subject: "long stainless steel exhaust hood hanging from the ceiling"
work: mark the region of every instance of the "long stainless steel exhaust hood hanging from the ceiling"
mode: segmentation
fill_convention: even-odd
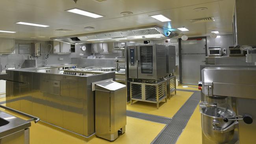
[[[111,31],[101,31],[95,33],[84,33],[78,35],[67,35],[63,37],[52,37],[50,39],[70,44],[100,41],[129,41],[135,39],[152,39],[156,37],[176,37],[178,33],[161,28],[159,26],[143,26]]]

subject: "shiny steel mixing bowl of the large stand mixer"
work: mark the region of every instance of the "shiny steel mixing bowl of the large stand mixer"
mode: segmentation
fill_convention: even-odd
[[[222,109],[209,106],[207,103],[201,102],[201,126],[204,135],[217,144],[226,144],[234,138],[235,124],[234,120],[224,122],[223,118],[236,118],[236,113],[230,109]]]

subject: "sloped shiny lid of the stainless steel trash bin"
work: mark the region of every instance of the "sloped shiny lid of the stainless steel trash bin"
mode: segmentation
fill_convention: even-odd
[[[117,83],[115,81],[106,81],[103,83],[96,84],[95,89],[96,90],[106,90],[106,91],[116,91],[119,89],[122,89],[126,87],[126,85],[123,85],[122,83]]]

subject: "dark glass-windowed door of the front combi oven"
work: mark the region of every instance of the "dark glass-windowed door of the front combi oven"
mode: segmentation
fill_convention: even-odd
[[[137,46],[138,78],[157,79],[156,76],[156,45]]]

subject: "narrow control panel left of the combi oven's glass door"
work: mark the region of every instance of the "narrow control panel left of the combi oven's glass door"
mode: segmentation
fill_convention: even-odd
[[[128,46],[129,78],[138,78],[137,46]]]

